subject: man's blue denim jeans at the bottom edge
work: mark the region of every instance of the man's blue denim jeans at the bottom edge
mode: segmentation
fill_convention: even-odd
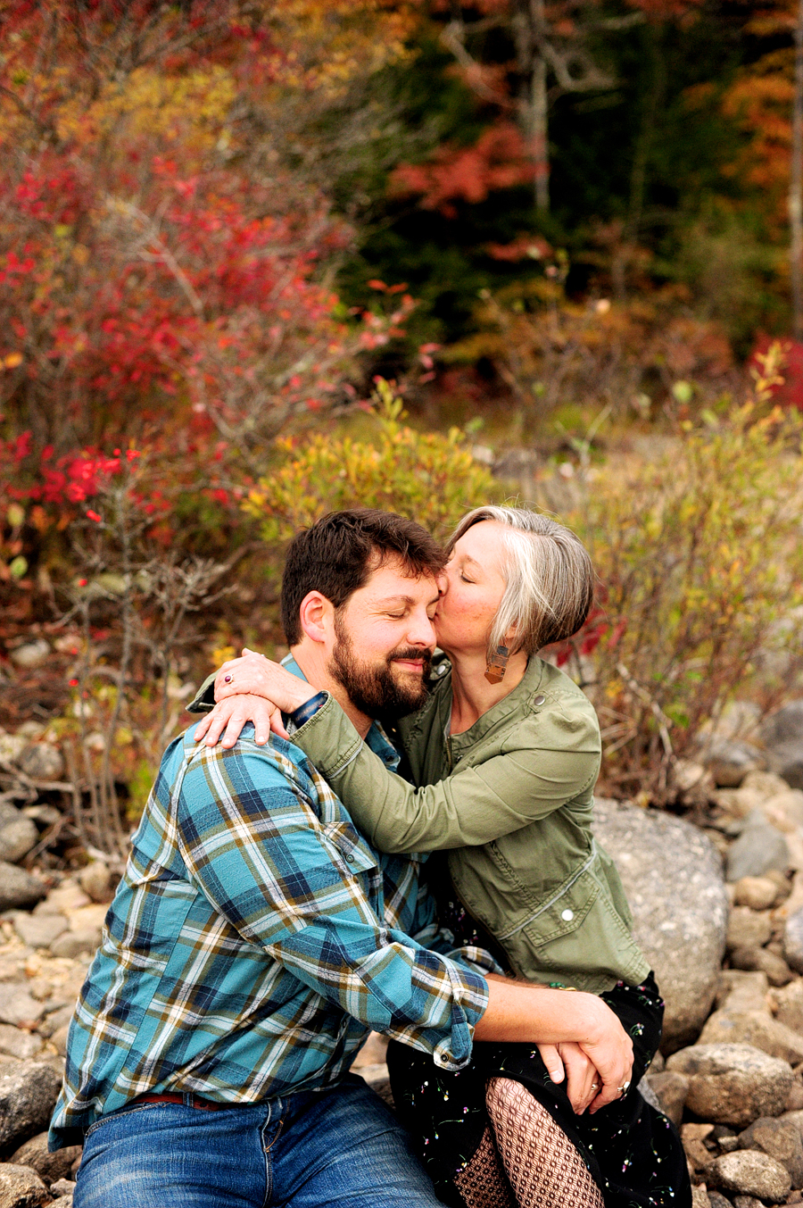
[[[441,1208],[361,1079],[220,1111],[121,1108],[87,1132],[74,1208]]]

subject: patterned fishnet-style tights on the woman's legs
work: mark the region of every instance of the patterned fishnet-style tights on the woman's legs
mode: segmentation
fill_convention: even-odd
[[[467,1208],[604,1208],[580,1154],[520,1082],[491,1078],[485,1104],[493,1134],[454,1180]]]

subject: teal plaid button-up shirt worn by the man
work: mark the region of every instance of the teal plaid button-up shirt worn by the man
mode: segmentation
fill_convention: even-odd
[[[223,750],[190,730],[164,754],[70,1026],[53,1148],[145,1092],[331,1086],[371,1028],[470,1061],[487,982],[448,956],[418,861],[374,852],[297,747],[252,733]],[[376,726],[368,744],[395,766]]]

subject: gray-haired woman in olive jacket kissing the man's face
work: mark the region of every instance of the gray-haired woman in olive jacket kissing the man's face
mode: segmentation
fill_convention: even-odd
[[[568,529],[523,509],[477,509],[449,544],[435,620],[449,662],[435,666],[424,708],[398,725],[419,788],[380,766],[331,697],[292,736],[374,846],[438,853],[430,883],[455,945],[482,946],[531,981],[601,994],[633,1039],[634,1085],[599,1111],[590,1074],[588,1092],[572,1094],[575,1111],[530,1046],[477,1044],[456,1075],[391,1046],[400,1115],[438,1192],[469,1208],[513,1203],[511,1189],[520,1206],[691,1203],[679,1138],[635,1091],[663,1004],[590,830],[597,718],[536,656],[582,626],[592,597],[590,559]],[[243,691],[291,710],[315,689],[267,660],[227,663],[216,696],[228,707],[216,707],[208,741]]]

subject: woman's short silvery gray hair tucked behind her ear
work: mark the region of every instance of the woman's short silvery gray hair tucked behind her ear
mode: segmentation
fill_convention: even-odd
[[[447,552],[481,521],[496,521],[506,529],[505,592],[489,635],[489,656],[506,644],[505,634],[513,626],[511,651],[528,655],[577,633],[594,599],[594,568],[580,538],[526,507],[475,507],[449,538]]]

